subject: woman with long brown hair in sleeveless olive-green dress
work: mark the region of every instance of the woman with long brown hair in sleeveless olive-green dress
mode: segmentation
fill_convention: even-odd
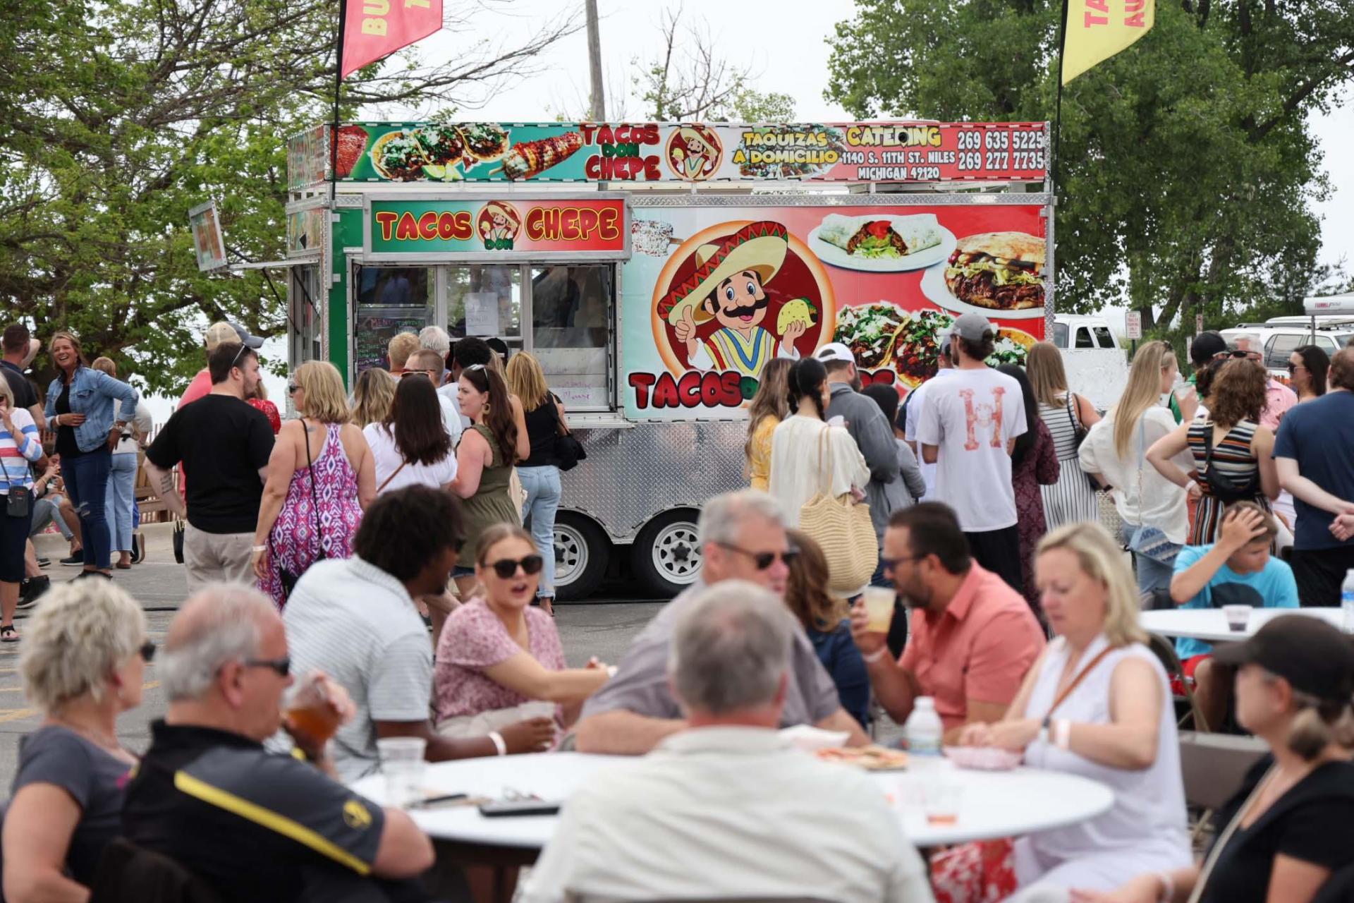
[[[502,376],[483,364],[460,372],[456,397],[460,413],[470,417],[470,429],[460,435],[460,444],[456,445],[456,479],[451,490],[464,500],[463,548],[475,548],[479,535],[489,527],[521,524],[508,491],[512,467],[517,462],[517,418]],[[474,567],[458,565],[452,575],[463,597],[475,585]]]

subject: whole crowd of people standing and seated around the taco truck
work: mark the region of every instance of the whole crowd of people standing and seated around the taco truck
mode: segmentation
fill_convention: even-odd
[[[768,364],[750,487],[703,505],[697,579],[619,663],[570,667],[551,604],[567,420],[528,353],[399,334],[351,398],[330,364],[298,367],[297,417],[275,428],[240,403],[260,401],[259,340],[213,325],[196,397],[145,451],[187,521],[190,600],[157,655],[141,607],[102,579],[122,551],[110,474],[125,431],[137,439],[135,390],[56,333],[46,405],[24,403],[8,378],[32,349],[7,330],[0,475],[27,498],[34,466],[69,464],[91,579],[46,592],[22,644],[45,720],[0,835],[5,899],[85,900],[138,856],[226,900],[483,899],[482,868],[444,868],[406,812],[349,789],[390,738],[418,738],[433,762],[643,757],[570,796],[523,880],[531,903],[1311,903],[1354,885],[1349,638],[1284,616],[1216,648],[1179,640],[1196,727],[1231,718],[1269,750],[1197,861],[1181,688],[1139,625],[1144,607],[1338,604],[1354,567],[1354,348],[1294,352],[1292,393],[1246,337],[1197,337],[1187,382],[1145,343],[1102,414],[1055,348],[991,367],[995,338],[959,317],[940,374],[902,405],[864,389],[841,344]],[[0,529],[0,639],[18,639],[31,519]],[[867,586],[894,592],[887,631],[852,604]],[[116,719],[152,659],[169,708],[135,754]],[[326,700],[330,739],[295,713],[301,688]],[[881,715],[932,707],[945,746],[1093,778],[1113,804],[927,861],[876,784],[777,732],[862,746]]]

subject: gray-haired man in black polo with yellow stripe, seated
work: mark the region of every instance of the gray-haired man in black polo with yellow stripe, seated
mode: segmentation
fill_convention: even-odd
[[[432,842],[408,815],[333,780],[324,745],[301,731],[288,728],[313,764],[264,750],[283,726],[290,666],[267,596],[218,583],[188,600],[157,662],[169,709],[127,785],[123,834],[226,900],[351,899],[360,885],[427,899],[410,879],[432,865]],[[347,695],[326,688],[349,715]]]

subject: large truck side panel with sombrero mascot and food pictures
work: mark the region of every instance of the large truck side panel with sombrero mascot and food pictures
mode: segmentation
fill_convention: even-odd
[[[739,416],[772,360],[830,341],[867,383],[933,376],[955,318],[994,326],[988,363],[1044,337],[1044,207],[643,207],[621,269],[626,416]]]

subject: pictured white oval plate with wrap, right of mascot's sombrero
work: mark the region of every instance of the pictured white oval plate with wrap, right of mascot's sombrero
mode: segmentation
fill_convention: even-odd
[[[955,252],[955,233],[936,214],[844,217],[827,214],[808,233],[808,246],[825,264],[867,272],[921,269]]]

